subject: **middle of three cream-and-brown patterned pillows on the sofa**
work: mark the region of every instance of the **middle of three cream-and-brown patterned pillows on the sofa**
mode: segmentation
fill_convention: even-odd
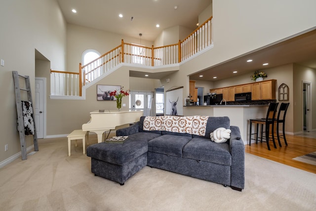
[[[179,133],[192,133],[193,117],[165,116],[161,130]]]

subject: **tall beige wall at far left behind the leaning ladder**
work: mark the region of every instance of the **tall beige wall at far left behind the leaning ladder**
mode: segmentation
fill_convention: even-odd
[[[51,62],[52,69],[65,70],[66,22],[56,0],[2,0],[0,3],[0,161],[21,151],[16,129],[16,106],[12,71],[30,76],[35,84],[35,49]],[[34,93],[33,93],[34,101]],[[27,147],[33,145],[26,136]],[[4,152],[4,145],[8,151]]]

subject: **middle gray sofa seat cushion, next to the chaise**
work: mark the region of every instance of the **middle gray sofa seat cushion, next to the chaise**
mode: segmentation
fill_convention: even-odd
[[[161,135],[148,142],[148,151],[182,157],[182,149],[191,139],[179,135]]]

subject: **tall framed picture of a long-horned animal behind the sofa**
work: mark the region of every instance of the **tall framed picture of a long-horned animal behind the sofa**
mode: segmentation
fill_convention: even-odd
[[[183,86],[166,91],[166,115],[183,116]]]

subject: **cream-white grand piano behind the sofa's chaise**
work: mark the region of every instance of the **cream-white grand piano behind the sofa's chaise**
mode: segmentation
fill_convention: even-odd
[[[90,121],[82,125],[83,131],[95,132],[98,135],[98,143],[102,142],[103,133],[115,129],[117,126],[135,123],[143,116],[143,111],[110,111],[90,112]]]

